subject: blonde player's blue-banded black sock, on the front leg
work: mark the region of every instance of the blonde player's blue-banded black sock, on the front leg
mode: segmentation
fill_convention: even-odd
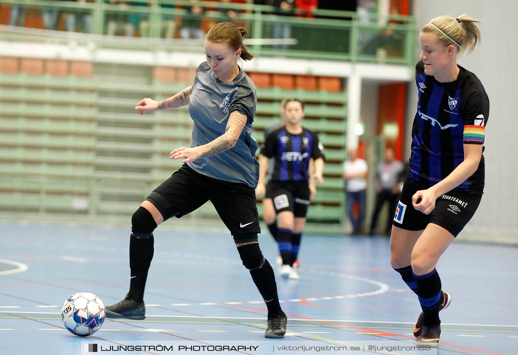
[[[423,308],[423,324],[438,324],[439,302],[441,301],[441,278],[437,270],[432,270],[424,275],[414,274],[417,283],[417,294],[421,308]]]

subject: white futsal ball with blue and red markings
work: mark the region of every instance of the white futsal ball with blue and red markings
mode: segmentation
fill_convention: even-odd
[[[63,325],[78,336],[89,336],[98,331],[105,316],[103,301],[90,292],[71,295],[61,307]]]

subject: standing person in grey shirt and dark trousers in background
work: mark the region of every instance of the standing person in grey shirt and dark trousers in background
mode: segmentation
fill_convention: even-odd
[[[396,202],[400,193],[399,179],[403,170],[403,163],[394,158],[394,151],[391,148],[385,149],[384,159],[380,161],[374,172],[374,183],[376,185],[376,206],[372,213],[370,224],[370,235],[376,234],[378,216],[385,204],[389,202],[389,214],[385,226],[385,234],[390,235],[392,229],[392,219],[396,212]]]

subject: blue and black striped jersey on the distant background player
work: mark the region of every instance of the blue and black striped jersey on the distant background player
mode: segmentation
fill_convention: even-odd
[[[301,134],[292,135],[281,127],[266,137],[261,154],[275,158],[272,181],[303,181],[309,179],[309,159],[324,158],[324,147],[309,129],[303,128]]]

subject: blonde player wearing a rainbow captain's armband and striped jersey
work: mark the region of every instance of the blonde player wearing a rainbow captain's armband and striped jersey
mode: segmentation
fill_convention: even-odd
[[[484,128],[489,99],[480,80],[457,64],[457,54],[480,41],[468,16],[441,16],[421,30],[416,65],[418,112],[412,128],[409,176],[391,236],[391,264],[419,298],[418,344],[437,346],[442,292],[437,261],[473,216],[484,189]]]

